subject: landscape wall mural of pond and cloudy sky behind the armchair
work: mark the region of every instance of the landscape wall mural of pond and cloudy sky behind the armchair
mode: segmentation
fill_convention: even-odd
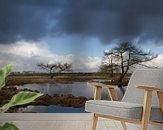
[[[86,114],[98,87],[121,101],[163,69],[162,23],[161,0],[0,0],[0,113]]]

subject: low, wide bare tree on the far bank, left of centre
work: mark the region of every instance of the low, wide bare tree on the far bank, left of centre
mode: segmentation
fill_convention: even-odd
[[[56,64],[38,64],[40,69],[43,69],[50,73],[51,78],[54,77],[55,73],[63,73],[72,71],[72,64],[70,63],[56,63]]]

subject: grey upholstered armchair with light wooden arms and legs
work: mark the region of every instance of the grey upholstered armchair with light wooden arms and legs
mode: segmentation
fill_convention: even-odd
[[[113,86],[90,85],[95,86],[95,95],[86,102],[85,110],[93,113],[92,130],[96,130],[98,117],[118,120],[124,130],[125,123],[140,124],[141,130],[147,130],[149,124],[163,126],[163,69],[134,71],[122,101],[115,101]],[[102,87],[108,87],[112,101],[100,100]]]

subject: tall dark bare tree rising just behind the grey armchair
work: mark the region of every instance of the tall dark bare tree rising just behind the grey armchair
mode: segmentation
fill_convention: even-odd
[[[105,60],[103,60],[101,66],[108,64],[112,73],[114,70],[119,70],[120,76],[117,80],[117,85],[120,88],[122,88],[123,79],[131,67],[136,65],[151,67],[145,63],[157,57],[151,52],[141,50],[131,42],[122,42],[110,51],[105,51],[104,55]]]

